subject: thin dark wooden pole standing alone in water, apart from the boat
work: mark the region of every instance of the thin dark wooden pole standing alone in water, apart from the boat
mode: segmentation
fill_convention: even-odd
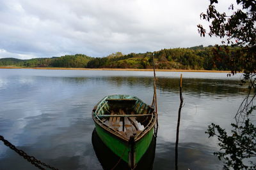
[[[176,131],[176,143],[175,143],[175,169],[178,169],[178,144],[179,144],[179,129],[180,129],[180,111],[183,104],[182,97],[182,74],[180,74],[180,107],[179,107],[179,115],[177,121],[177,131]]]

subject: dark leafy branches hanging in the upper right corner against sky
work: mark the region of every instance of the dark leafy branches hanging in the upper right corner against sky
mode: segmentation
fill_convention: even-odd
[[[241,47],[225,57],[216,53],[216,60],[226,60],[232,74],[243,71],[245,78],[248,78],[249,74],[256,73],[256,1],[237,0],[237,4],[242,6],[241,9],[234,8],[234,4],[230,4],[228,8],[232,12],[230,16],[216,10],[214,4],[218,3],[217,0],[210,0],[210,2],[207,12],[201,13],[200,17],[211,23],[209,36],[226,38],[222,41],[226,46],[221,49],[216,45],[217,51],[227,50],[227,45]],[[207,34],[201,24],[197,27],[201,36]]]

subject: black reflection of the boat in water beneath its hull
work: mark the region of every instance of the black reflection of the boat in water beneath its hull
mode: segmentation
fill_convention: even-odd
[[[120,157],[115,155],[115,153],[113,153],[103,143],[103,141],[99,138],[95,129],[92,132],[92,145],[97,155],[97,158],[99,159],[99,162],[104,170],[113,169],[113,167],[115,166],[116,166],[115,167],[116,170],[117,169],[131,170],[131,167],[129,167],[124,160],[120,159]],[[156,152],[156,138],[153,137],[150,145],[148,146],[147,152],[145,152],[140,162],[138,162],[137,166],[134,169],[145,169],[145,170],[152,169],[154,158],[155,158],[155,152]]]

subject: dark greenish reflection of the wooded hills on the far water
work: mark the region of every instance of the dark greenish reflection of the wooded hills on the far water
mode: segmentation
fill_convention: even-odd
[[[151,88],[153,84],[153,78],[148,77],[120,77],[120,76],[109,76],[109,77],[96,77],[96,78],[61,78],[63,81],[69,81],[74,83],[84,83],[85,81],[106,81],[111,85],[115,85],[117,87],[128,86],[128,87],[136,87],[138,85],[143,86],[145,88]],[[168,92],[179,92],[179,78],[157,78],[157,89],[161,91]],[[186,94],[201,95],[204,93],[205,95],[218,95],[225,96],[228,95],[241,95],[247,91],[247,88],[240,87],[238,85],[238,81],[236,80],[206,80],[201,78],[188,78],[186,79],[186,83],[184,84],[184,92]]]

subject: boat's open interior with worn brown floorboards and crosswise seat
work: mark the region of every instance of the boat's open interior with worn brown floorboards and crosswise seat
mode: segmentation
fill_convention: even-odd
[[[100,123],[129,139],[137,138],[154,121],[153,108],[138,99],[106,99],[95,110]]]

